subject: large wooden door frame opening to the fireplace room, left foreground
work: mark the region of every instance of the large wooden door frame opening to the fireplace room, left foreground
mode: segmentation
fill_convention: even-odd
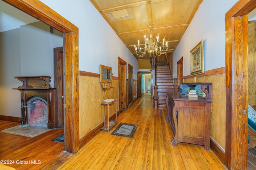
[[[65,151],[79,150],[79,109],[78,109],[78,27],[66,20],[40,0],[3,0],[26,14],[64,33],[65,58]]]

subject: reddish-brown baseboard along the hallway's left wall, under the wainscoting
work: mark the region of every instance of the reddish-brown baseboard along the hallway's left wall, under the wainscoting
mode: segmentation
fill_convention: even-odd
[[[119,116],[119,111],[117,111],[117,115]],[[109,117],[110,120],[116,119],[116,113],[114,113],[112,116]],[[101,128],[103,127],[103,122],[100,123],[98,126],[96,126],[94,129],[92,129],[92,131],[90,131],[89,133],[87,133],[86,135],[84,135],[82,138],[80,138],[80,148],[82,148],[84,145],[86,145],[86,143],[88,143],[92,138],[94,138],[96,135],[98,135],[98,133],[100,133],[100,131],[104,131],[101,130]]]

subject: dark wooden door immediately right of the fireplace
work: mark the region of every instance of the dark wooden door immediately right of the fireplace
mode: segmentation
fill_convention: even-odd
[[[61,127],[64,120],[64,69],[63,47],[54,48],[55,127]]]

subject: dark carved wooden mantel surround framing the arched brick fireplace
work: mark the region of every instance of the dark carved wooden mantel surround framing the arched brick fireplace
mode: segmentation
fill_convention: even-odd
[[[47,127],[53,129],[55,125],[55,98],[54,92],[56,88],[50,86],[50,76],[19,76],[14,77],[23,82],[22,86],[13,88],[20,91],[21,97],[21,112],[22,122],[21,124],[28,124],[28,100],[33,97],[39,97],[46,101],[48,110],[48,123]],[[25,115],[25,113],[27,113]]]

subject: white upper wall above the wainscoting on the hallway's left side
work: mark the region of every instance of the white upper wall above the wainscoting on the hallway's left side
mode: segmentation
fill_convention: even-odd
[[[100,64],[112,67],[118,76],[118,57],[133,66],[138,61],[89,0],[41,0],[79,29],[79,70],[100,73]],[[61,5],[60,5],[61,4]]]

